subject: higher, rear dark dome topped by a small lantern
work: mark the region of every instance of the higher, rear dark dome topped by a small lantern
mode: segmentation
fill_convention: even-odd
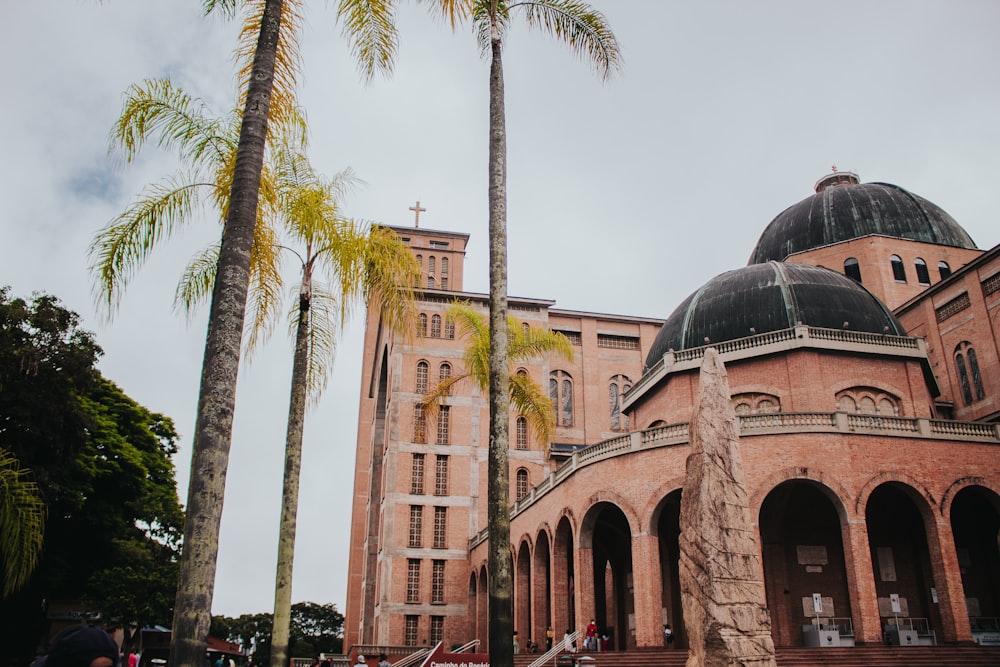
[[[922,197],[889,183],[860,183],[850,172],[820,179],[816,194],[782,211],[760,235],[750,264],[878,234],[974,249],[955,219]]]

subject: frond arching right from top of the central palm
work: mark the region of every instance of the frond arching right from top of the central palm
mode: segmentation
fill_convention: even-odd
[[[521,0],[529,27],[538,28],[565,42],[589,62],[602,80],[621,69],[621,51],[604,14],[581,0]]]

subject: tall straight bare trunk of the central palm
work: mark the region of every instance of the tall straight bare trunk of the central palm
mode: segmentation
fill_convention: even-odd
[[[514,580],[510,553],[510,470],[507,463],[510,377],[507,369],[507,128],[502,43],[494,31],[490,64],[490,442],[487,532],[489,534],[489,652],[492,667],[514,664]]]

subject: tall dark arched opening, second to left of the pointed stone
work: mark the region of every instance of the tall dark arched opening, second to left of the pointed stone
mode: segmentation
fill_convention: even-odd
[[[632,531],[625,514],[611,503],[600,503],[588,518],[593,549],[594,620],[598,635],[608,635],[608,648],[635,647],[632,590]]]

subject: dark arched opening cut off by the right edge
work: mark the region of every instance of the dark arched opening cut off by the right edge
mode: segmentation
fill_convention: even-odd
[[[955,495],[951,531],[973,636],[1000,631],[1000,497],[981,486]]]

